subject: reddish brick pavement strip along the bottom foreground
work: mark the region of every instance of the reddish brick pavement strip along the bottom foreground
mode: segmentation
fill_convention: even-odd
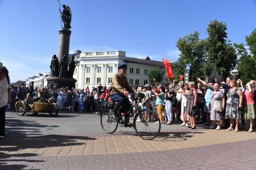
[[[255,169],[255,146],[252,139],[143,153],[11,156],[1,159],[0,169]]]

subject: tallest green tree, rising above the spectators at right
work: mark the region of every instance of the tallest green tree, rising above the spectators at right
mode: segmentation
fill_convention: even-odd
[[[233,44],[226,40],[226,23],[211,21],[207,28],[208,37],[205,40],[207,50],[207,63],[205,74],[210,76],[213,67],[217,73],[227,77],[230,71],[236,67],[237,55]]]

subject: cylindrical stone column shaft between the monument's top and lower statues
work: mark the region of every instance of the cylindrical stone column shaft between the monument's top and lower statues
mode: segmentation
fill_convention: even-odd
[[[66,28],[60,29],[60,40],[58,41],[58,62],[60,62],[63,55],[69,56],[69,41],[71,31]]]

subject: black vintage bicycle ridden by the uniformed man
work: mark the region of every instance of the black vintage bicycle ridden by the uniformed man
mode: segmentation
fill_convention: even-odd
[[[140,138],[145,140],[152,140],[157,137],[161,130],[160,119],[155,112],[149,109],[140,109],[141,107],[139,106],[139,100],[142,98],[143,97],[141,96],[135,97],[131,95],[132,103],[134,103],[134,105],[131,107],[130,117],[126,118],[126,120],[123,118],[124,115],[120,113],[120,119],[118,121],[114,120],[114,114],[112,112],[114,103],[108,103],[100,114],[101,127],[104,132],[108,134],[116,132],[118,125],[123,127],[125,121],[128,121],[131,117],[133,117],[134,119],[131,127],[135,129],[135,132],[138,136],[140,136]]]

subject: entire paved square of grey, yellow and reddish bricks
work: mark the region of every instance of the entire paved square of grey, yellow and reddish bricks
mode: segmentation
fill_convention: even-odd
[[[256,169],[255,133],[172,124],[145,141],[133,128],[105,134],[98,115],[74,113],[7,112],[6,126],[0,169]]]

